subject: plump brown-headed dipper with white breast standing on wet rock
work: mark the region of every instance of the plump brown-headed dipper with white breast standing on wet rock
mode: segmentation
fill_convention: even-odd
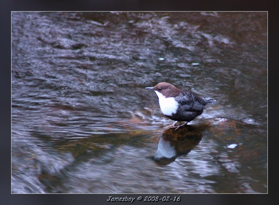
[[[176,121],[183,121],[184,124],[177,126],[181,127],[195,119],[203,113],[206,105],[216,103],[213,98],[200,98],[190,91],[181,90],[174,87],[172,84],[161,82],[154,87],[146,87],[145,89],[154,90],[159,98],[159,105],[162,113]]]

